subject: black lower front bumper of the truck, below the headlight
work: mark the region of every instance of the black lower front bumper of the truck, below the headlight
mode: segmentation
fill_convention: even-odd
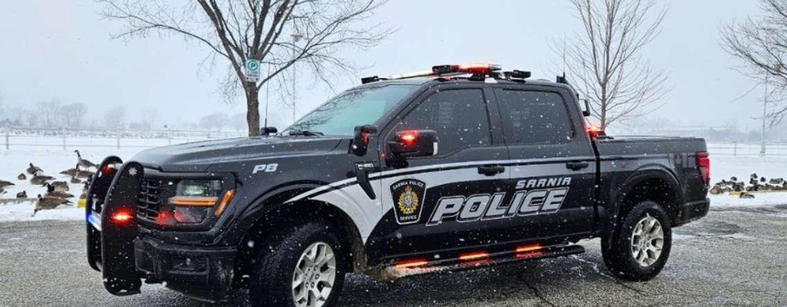
[[[150,237],[134,241],[137,271],[146,283],[195,298],[217,301],[231,288],[236,249],[167,244]]]

